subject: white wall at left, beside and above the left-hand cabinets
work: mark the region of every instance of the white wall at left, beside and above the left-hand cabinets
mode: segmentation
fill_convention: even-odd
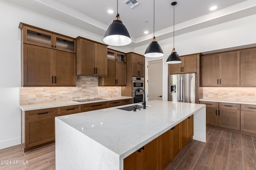
[[[0,0],[0,21],[0,149],[2,149],[21,143],[19,23],[23,22],[70,37],[81,36],[98,42],[103,42],[103,37],[4,0]],[[134,51],[131,47],[115,49],[123,52]]]

